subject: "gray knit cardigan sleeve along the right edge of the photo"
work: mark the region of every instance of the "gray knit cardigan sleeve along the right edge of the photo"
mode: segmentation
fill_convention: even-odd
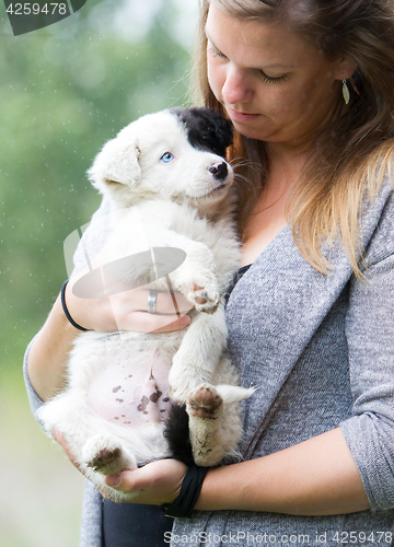
[[[371,509],[394,508],[394,207],[387,203],[351,282],[346,335],[352,415],[340,427]]]

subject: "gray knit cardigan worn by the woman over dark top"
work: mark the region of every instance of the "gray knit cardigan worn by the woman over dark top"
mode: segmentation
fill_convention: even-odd
[[[107,235],[107,209],[104,203],[84,234],[90,253]],[[170,539],[173,546],[209,547],[391,545],[394,199],[389,181],[373,205],[364,205],[361,247],[366,280],[355,278],[340,246],[326,249],[333,269],[320,274],[285,228],[235,286],[227,321],[229,351],[243,385],[262,386],[244,405],[244,458],[283,450],[340,426],[371,510],[334,516],[196,511],[192,519],[175,521],[172,537],[165,538],[169,545]],[[79,248],[76,268],[83,266]],[[42,401],[26,368],[25,379],[34,411]],[[101,503],[100,493],[86,484],[81,547],[102,547]]]

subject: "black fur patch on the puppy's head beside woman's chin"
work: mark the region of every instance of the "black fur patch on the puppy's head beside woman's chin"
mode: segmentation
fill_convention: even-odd
[[[229,119],[213,108],[173,108],[186,128],[187,140],[198,150],[225,156],[225,149],[233,138],[233,126]]]

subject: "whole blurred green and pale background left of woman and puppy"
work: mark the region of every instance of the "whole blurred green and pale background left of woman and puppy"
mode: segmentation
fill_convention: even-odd
[[[88,0],[14,36],[0,3],[1,547],[78,546],[83,479],[30,412],[23,353],[67,278],[63,241],[100,203],[93,158],[132,119],[187,104],[197,4]]]

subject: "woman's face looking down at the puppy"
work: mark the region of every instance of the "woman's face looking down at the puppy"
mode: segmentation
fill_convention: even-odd
[[[235,19],[211,5],[206,33],[209,84],[246,137],[302,148],[344,101],[341,80],[355,68],[328,61],[285,26]]]

